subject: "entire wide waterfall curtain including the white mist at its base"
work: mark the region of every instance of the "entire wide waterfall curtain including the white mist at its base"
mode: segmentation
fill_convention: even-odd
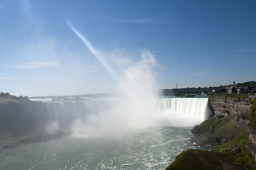
[[[139,106],[132,109],[119,105],[120,101],[121,98],[48,101],[47,131],[69,129],[80,123],[85,126],[103,126],[103,129],[111,126],[119,129],[120,125],[134,128],[143,123],[149,126],[192,127],[202,123],[208,115],[208,98],[160,98],[158,108],[150,111],[153,115],[142,113],[142,109],[137,111]]]

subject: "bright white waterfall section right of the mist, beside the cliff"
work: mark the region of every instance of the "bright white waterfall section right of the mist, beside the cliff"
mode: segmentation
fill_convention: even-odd
[[[208,118],[208,98],[161,98],[159,110],[164,124],[190,127]]]

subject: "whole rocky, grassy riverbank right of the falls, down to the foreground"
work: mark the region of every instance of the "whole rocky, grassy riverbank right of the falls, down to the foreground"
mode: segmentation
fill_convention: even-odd
[[[255,100],[251,101],[250,98],[239,97],[209,98],[209,106],[214,113],[213,117],[193,128],[194,136],[192,140],[197,145],[215,147],[214,152],[207,153],[208,159],[202,159],[201,154],[199,154],[200,152],[194,152],[193,150],[190,151],[190,154],[181,153],[176,161],[169,166],[169,169],[181,169],[181,167],[178,168],[181,164],[191,164],[191,162],[196,161],[198,164],[205,164],[207,166],[204,168],[190,166],[190,169],[211,169],[212,164],[210,162],[212,162],[212,159],[215,159],[216,152],[222,152],[229,156],[233,163],[244,166],[244,168],[241,166],[228,168],[231,167],[226,164],[228,162],[224,162],[226,165],[222,164],[223,162],[219,162],[218,164],[221,163],[222,168],[217,169],[256,169]],[[252,108],[255,108],[255,110],[252,111]],[[187,161],[189,157],[193,157],[193,160],[191,159],[190,162]]]

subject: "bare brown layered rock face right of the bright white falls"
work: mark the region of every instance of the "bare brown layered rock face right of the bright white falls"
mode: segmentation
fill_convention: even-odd
[[[209,105],[214,116],[229,116],[235,122],[248,123],[250,107],[250,98],[209,98]]]

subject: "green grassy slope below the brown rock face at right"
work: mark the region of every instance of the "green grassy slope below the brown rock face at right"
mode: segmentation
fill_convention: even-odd
[[[256,99],[253,102],[256,103]],[[253,111],[256,110],[251,109],[251,113]],[[250,122],[255,128],[255,121]],[[208,143],[216,145],[215,152],[223,152],[233,157],[234,164],[245,166],[247,170],[256,169],[253,157],[245,151],[245,146],[249,144],[246,125],[242,129],[237,128],[230,118],[224,117],[206,120],[193,128],[192,132],[196,134],[195,141],[201,142],[200,145]]]

